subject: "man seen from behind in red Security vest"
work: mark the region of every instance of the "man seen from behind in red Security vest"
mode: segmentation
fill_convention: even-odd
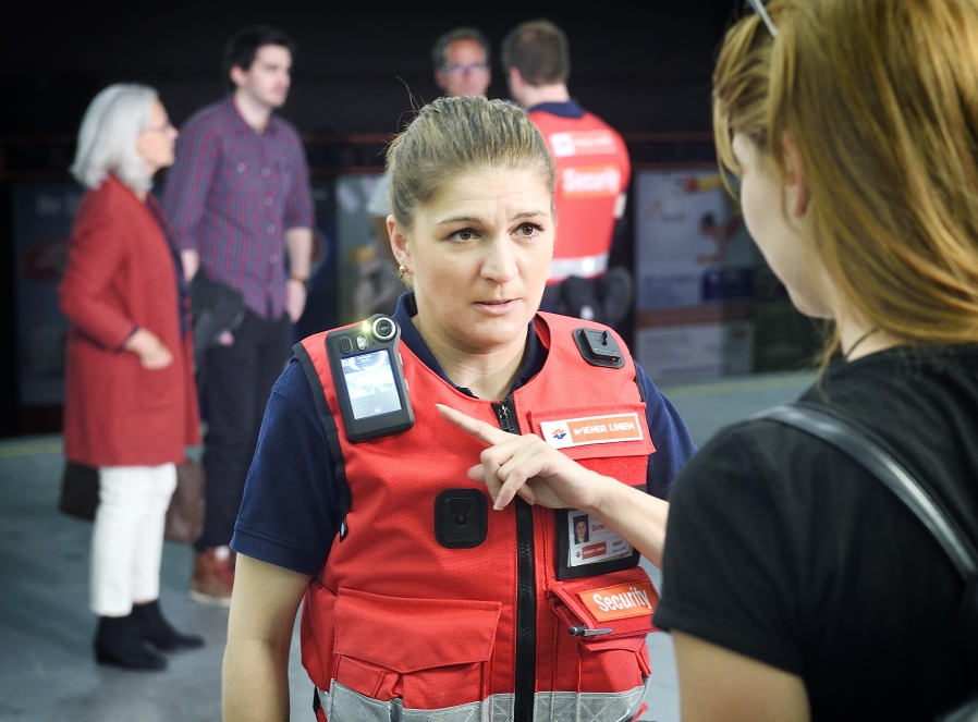
[[[557,244],[541,308],[613,326],[631,304],[627,273],[602,278],[632,174],[625,143],[571,98],[567,38],[550,21],[529,21],[511,30],[502,63],[510,95],[540,129],[560,171],[553,198]]]

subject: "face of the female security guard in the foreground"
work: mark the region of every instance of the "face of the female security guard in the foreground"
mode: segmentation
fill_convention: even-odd
[[[553,255],[550,208],[538,173],[488,170],[445,183],[406,234],[391,221],[429,346],[468,354],[522,348]]]

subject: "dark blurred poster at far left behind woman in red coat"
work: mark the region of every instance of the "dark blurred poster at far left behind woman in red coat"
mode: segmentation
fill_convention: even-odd
[[[82,187],[74,182],[16,183],[13,188],[17,319],[17,394],[21,407],[64,401],[64,341],[58,284],[68,264],[68,238]]]

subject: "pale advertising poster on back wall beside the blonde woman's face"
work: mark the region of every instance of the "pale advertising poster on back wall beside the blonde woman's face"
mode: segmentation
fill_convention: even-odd
[[[638,360],[658,380],[753,370],[759,255],[712,171],[644,171],[636,215]]]

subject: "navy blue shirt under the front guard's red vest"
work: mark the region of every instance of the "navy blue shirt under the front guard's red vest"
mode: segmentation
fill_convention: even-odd
[[[416,313],[414,295],[402,295],[394,311],[402,341],[447,383],[473,396],[445,376],[411,320]],[[547,348],[530,322],[523,364],[511,392],[536,376],[546,360]],[[648,492],[665,499],[696,446],[675,407],[637,364],[635,368],[656,444],[649,456]],[[302,366],[293,360],[276,382],[265,409],[231,548],[301,574],[317,574],[341,522],[333,468],[313,390]]]

